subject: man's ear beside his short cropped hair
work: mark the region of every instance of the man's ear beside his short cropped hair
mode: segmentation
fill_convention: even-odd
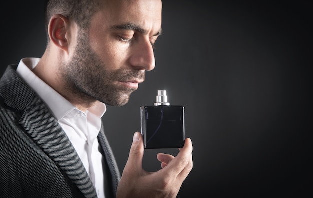
[[[61,14],[55,14],[51,17],[48,26],[50,40],[64,51],[68,51],[70,31],[70,21],[67,17]]]

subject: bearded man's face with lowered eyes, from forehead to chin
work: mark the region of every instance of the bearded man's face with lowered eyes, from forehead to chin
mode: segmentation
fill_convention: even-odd
[[[87,32],[78,30],[75,51],[61,73],[75,95],[121,106],[143,82],[145,70],[155,66],[162,5],[161,0],[111,1]]]

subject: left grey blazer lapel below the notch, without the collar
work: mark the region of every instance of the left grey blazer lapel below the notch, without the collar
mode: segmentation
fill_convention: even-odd
[[[29,108],[20,119],[20,124],[85,197],[96,197],[93,184],[76,150],[61,126],[38,97],[33,97]]]

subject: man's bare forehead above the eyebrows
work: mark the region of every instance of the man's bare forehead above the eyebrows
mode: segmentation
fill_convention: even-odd
[[[107,0],[94,19],[107,27],[131,23],[152,32],[161,29],[161,15],[161,0]]]

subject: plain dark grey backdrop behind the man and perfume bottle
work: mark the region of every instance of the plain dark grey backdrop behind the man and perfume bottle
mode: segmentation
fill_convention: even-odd
[[[38,3],[39,2],[39,3]],[[45,48],[43,0],[8,1],[1,13],[0,73]],[[157,90],[185,106],[194,167],[178,197],[312,194],[311,7],[304,2],[164,0],[156,67],[123,107],[108,106],[106,134],[120,170],[140,106]],[[157,152],[143,167],[156,171]]]

